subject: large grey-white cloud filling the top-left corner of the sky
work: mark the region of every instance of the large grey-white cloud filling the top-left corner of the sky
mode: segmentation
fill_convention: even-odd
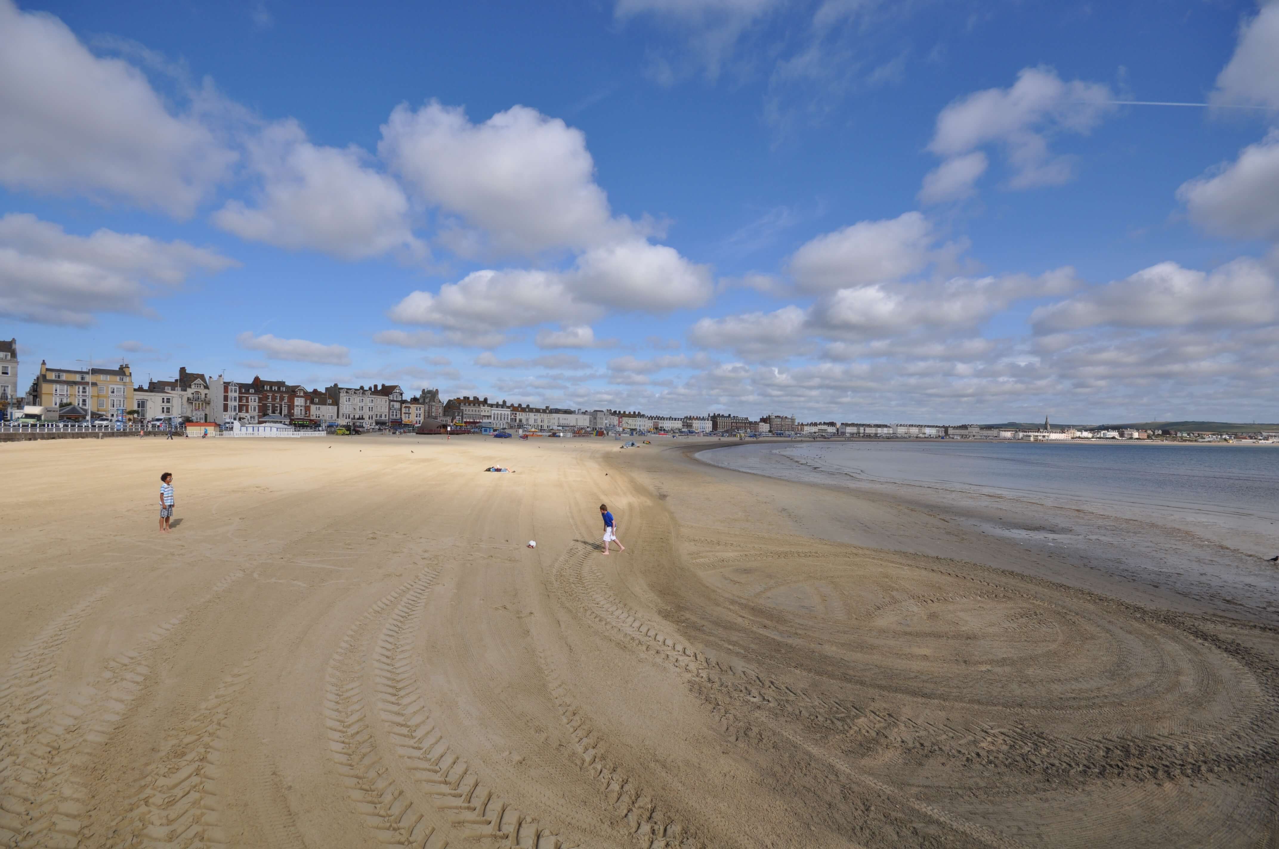
[[[187,217],[235,161],[147,78],[91,54],[59,19],[0,0],[0,183],[124,199]]]

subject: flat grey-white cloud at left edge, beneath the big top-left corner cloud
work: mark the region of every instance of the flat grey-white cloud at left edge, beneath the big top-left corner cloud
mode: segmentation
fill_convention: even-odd
[[[185,242],[97,230],[70,235],[33,215],[0,217],[0,316],[87,326],[93,313],[150,315],[145,299],[196,271],[238,265]]]

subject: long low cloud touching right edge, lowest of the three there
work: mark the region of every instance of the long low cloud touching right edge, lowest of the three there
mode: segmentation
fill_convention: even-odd
[[[1274,269],[1251,258],[1211,274],[1160,262],[1031,313],[1036,332],[1083,327],[1246,327],[1279,321]]]

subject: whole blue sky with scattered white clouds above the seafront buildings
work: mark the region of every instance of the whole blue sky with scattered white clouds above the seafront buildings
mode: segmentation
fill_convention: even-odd
[[[23,382],[1279,419],[1279,3],[439,5],[0,0]]]

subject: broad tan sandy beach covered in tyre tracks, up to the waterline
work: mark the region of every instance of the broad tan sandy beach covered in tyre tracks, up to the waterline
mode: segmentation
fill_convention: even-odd
[[[1279,844],[1274,628],[688,445],[0,446],[0,845]]]

